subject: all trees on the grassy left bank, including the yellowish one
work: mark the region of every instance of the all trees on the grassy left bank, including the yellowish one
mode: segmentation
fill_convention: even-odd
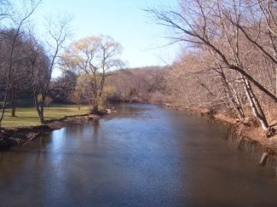
[[[30,27],[41,0],[21,3],[0,1],[0,127],[8,104],[11,115],[16,115],[19,97],[34,100],[41,123],[51,96],[77,103],[86,97],[91,112],[98,112],[105,79],[113,75],[108,70],[123,66],[120,44],[101,35],[67,45],[71,37],[67,16],[46,18],[47,37],[42,41]],[[63,77],[53,79],[55,69],[64,70]]]

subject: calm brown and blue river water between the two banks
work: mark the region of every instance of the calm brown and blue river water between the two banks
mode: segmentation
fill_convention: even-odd
[[[1,152],[0,206],[277,206],[272,166],[222,127],[158,106],[116,110]]]

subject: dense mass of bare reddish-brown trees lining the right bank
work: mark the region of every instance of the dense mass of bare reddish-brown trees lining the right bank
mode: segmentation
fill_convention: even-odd
[[[276,1],[182,0],[179,10],[147,11],[186,48],[169,74],[178,99],[233,109],[243,123],[251,109],[267,135],[274,134]]]

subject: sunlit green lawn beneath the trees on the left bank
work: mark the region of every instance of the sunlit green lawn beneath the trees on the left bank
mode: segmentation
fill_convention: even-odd
[[[52,105],[44,109],[44,117],[45,120],[60,119],[65,116],[84,115],[88,112],[88,106],[81,106],[79,111],[76,105]],[[11,117],[10,109],[7,109],[1,126],[4,128],[15,128],[40,125],[35,108],[17,108],[15,115],[16,117]]]

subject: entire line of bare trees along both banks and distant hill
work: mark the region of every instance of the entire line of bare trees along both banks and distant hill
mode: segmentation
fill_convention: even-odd
[[[3,8],[9,6],[3,2]],[[172,43],[184,51],[171,66],[133,69],[123,69],[121,46],[111,37],[65,46],[69,19],[49,24],[52,41],[46,46],[24,27],[37,4],[30,5],[21,21],[12,18],[12,27],[1,30],[1,119],[8,100],[15,108],[16,100],[26,96],[34,98],[42,122],[49,96],[88,103],[91,112],[105,101],[166,102],[222,110],[243,124],[257,120],[268,137],[275,134],[276,1],[181,0],[176,10],[145,10],[169,28]],[[64,71],[61,77],[52,79],[54,68]]]

